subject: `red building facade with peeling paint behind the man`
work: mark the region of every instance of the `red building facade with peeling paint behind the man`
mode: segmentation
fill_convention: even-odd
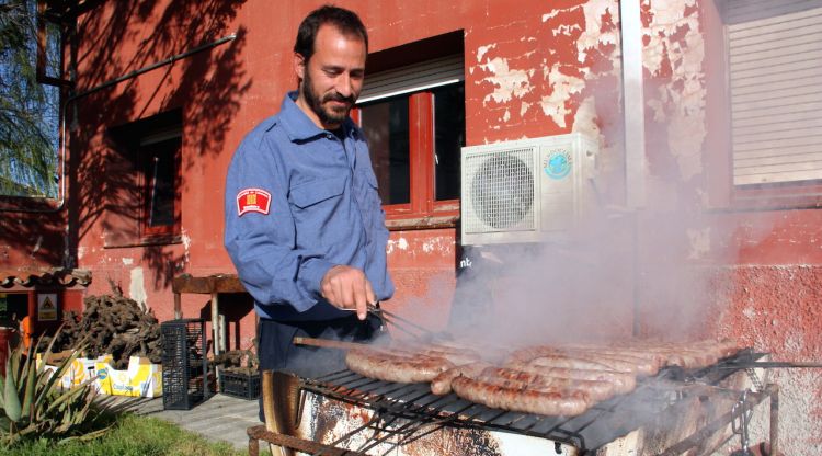
[[[366,80],[393,70],[400,76],[391,81],[413,82],[409,66],[461,57],[463,145],[569,133],[598,144],[598,203],[586,237],[570,247],[526,247],[530,253],[511,273],[488,277],[499,327],[538,333],[539,324],[516,318],[526,314],[551,331],[575,324],[618,335],[733,337],[777,360],[822,358],[822,170],[785,171],[789,158],[768,168],[745,149],[770,139],[756,137],[767,127],[746,124],[756,116],[737,106],[773,114],[755,103],[777,89],[756,92],[767,81],[754,80],[752,101],[738,89],[739,45],[729,36],[773,18],[737,3],[338,3],[368,29]],[[4,201],[0,264],[88,270],[85,294],[109,293],[114,283],[168,320],[174,276],[235,272],[222,248],[226,169],[243,135],[296,88],[294,36],[320,3],[81,4],[66,44],[75,80],[65,103],[65,201],[39,208]],[[777,13],[801,23],[813,11],[770,16]],[[801,71],[791,71],[794,86]],[[460,261],[460,198],[436,192],[446,183],[437,184],[445,158],[436,157],[434,136],[457,127],[437,126],[431,93],[407,94],[408,174],[390,182],[408,196],[386,205],[397,294],[385,306],[438,330],[448,323]],[[792,136],[779,136],[790,128],[769,134],[785,147],[820,126],[791,115],[779,114],[796,127]],[[814,147],[797,156],[820,152]],[[377,173],[392,175],[386,172]],[[563,289],[544,282],[563,274],[576,277]],[[222,298],[220,309],[228,347],[250,346],[248,298]],[[209,319],[208,297],[183,295],[182,315]],[[783,388],[786,454],[819,453],[819,375],[775,371],[772,378]]]

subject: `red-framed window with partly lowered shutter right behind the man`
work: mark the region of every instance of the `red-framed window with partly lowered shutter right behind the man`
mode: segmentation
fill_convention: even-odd
[[[408,45],[418,49],[413,53],[402,46],[368,57],[369,65],[408,55],[431,57],[374,72],[366,69],[355,113],[368,139],[389,227],[456,223],[465,146],[461,39],[461,33],[454,33]],[[450,54],[432,55],[444,49]]]

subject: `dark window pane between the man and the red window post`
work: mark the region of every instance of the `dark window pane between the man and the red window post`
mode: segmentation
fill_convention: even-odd
[[[411,202],[408,96],[359,106],[383,204]]]

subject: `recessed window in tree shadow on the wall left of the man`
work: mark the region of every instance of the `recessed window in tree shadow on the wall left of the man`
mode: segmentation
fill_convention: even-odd
[[[180,111],[110,130],[106,247],[180,242]]]

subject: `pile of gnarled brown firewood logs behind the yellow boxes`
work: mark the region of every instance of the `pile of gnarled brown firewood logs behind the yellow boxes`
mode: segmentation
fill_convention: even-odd
[[[89,296],[84,304],[81,316],[66,312],[53,351],[73,350],[85,338],[87,356],[111,354],[115,369],[127,368],[130,356],[148,357],[151,363],[161,362],[160,323],[150,311],[119,293]]]

